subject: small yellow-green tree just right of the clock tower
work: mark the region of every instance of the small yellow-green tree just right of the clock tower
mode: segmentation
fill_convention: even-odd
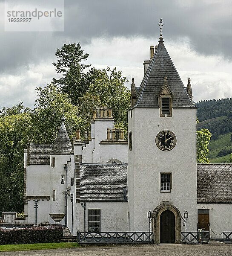
[[[208,129],[197,131],[197,163],[209,163],[206,156],[209,153],[208,144],[211,135]]]

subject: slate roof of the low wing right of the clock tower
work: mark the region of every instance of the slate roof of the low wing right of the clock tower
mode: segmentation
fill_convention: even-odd
[[[198,164],[198,203],[232,203],[232,164]]]

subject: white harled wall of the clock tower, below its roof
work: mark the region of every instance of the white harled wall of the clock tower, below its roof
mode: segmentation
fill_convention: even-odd
[[[128,112],[128,195],[130,230],[148,230],[147,212],[161,201],[170,201],[189,212],[188,229],[197,230],[196,110],[173,109],[172,117],[160,117],[159,109],[135,108]],[[171,151],[158,149],[155,137],[163,130],[177,139]],[[160,172],[172,172],[172,192],[160,193]]]

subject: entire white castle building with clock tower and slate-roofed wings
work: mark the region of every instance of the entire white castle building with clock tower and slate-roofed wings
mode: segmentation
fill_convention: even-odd
[[[59,223],[77,232],[148,231],[156,242],[180,243],[188,230],[232,230],[231,164],[196,163],[196,107],[160,36],[144,61],[140,87],[132,79],[128,138],[112,110],[94,111],[91,133],[71,142],[62,119],[54,144],[25,151],[24,213],[28,223]],[[154,52],[155,51],[155,52]]]

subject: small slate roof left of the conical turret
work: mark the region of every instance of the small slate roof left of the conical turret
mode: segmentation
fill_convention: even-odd
[[[30,144],[30,164],[50,165],[50,151],[53,144]]]

